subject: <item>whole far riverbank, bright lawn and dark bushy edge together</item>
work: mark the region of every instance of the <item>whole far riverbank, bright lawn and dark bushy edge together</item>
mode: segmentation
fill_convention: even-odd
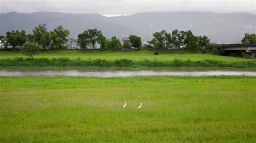
[[[153,51],[46,51],[30,60],[20,52],[1,51],[0,66],[70,67],[256,67],[255,59],[219,56],[212,53]],[[16,57],[18,56],[18,57]]]

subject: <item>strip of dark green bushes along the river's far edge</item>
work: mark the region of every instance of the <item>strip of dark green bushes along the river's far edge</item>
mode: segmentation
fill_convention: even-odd
[[[193,61],[190,59],[179,60],[174,59],[170,61],[160,61],[160,60],[142,60],[134,61],[130,59],[117,59],[117,60],[105,60],[105,59],[95,59],[95,60],[80,60],[69,59],[69,58],[38,58],[38,59],[1,59],[1,67],[234,67],[234,68],[246,68],[246,67],[256,67],[255,61],[223,61],[223,60],[213,60],[205,59]]]

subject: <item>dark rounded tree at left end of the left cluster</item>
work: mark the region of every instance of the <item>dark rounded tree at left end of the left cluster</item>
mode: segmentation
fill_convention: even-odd
[[[10,44],[15,51],[16,46],[22,46],[26,42],[26,31],[14,31],[6,32],[6,44]]]

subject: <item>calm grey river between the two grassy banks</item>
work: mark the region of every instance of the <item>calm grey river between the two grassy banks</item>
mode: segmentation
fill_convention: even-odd
[[[256,68],[117,68],[117,67],[0,67],[0,76],[87,76],[126,77],[149,75],[246,75],[256,76]]]

